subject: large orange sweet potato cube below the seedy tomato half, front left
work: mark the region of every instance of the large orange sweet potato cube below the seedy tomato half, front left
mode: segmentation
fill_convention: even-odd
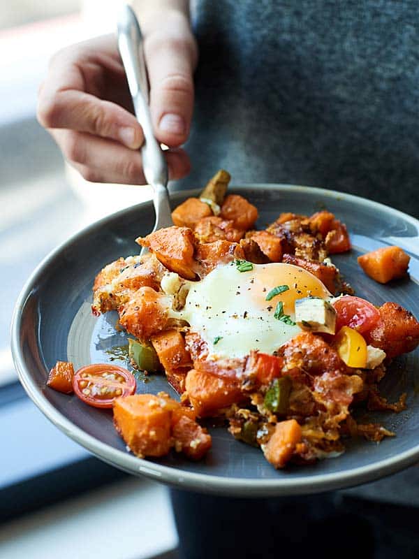
[[[113,405],[118,433],[136,456],[164,456],[172,446],[172,411],[164,398],[133,394]]]

